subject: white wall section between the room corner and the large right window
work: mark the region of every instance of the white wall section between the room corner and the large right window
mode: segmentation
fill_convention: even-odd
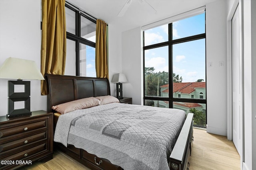
[[[132,104],[143,105],[142,30],[136,27],[122,32],[122,72],[128,83],[123,84],[123,96]]]

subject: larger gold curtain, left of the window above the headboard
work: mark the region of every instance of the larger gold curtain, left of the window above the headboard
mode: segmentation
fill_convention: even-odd
[[[42,0],[41,73],[63,75],[66,64],[65,0]],[[47,94],[41,81],[41,94]]]

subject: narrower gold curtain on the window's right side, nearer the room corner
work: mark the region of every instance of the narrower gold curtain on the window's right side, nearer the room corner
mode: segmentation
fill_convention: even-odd
[[[107,24],[102,20],[96,22],[96,76],[108,78],[108,57],[107,57]]]

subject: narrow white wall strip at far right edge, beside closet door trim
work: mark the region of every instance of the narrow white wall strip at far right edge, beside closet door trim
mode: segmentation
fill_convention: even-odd
[[[244,162],[243,169],[256,169],[256,3],[242,0],[244,34]]]

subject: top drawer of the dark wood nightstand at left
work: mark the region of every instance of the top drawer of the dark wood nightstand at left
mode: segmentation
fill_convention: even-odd
[[[47,127],[47,119],[34,122],[34,123],[32,122],[32,123],[21,124],[12,128],[1,129],[0,138],[8,137],[8,136],[23,133],[23,132],[32,131],[34,129],[39,129],[43,127]]]

